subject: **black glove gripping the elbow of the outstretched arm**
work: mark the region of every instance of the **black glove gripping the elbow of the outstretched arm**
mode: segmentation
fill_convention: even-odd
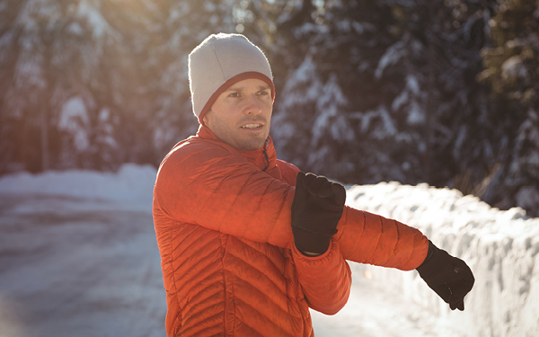
[[[292,203],[292,233],[302,253],[324,253],[331,235],[337,233],[346,191],[322,175],[297,173],[296,195]]]

